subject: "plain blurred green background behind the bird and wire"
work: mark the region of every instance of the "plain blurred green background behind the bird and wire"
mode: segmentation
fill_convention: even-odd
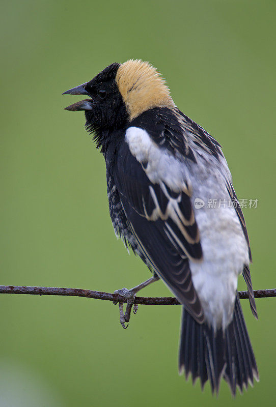
[[[1,13],[1,284],[113,292],[149,277],[114,236],[105,166],[62,92],[112,62],[150,61],[224,148],[251,239],[255,288],[276,286],[275,2],[10,1]],[[245,284],[240,278],[240,289]],[[170,295],[157,282],[143,295]],[[242,301],[260,383],[218,398],[177,372],[180,307],[0,297],[0,405],[258,405],[272,401],[276,299]],[[38,401],[39,400],[39,401]]]

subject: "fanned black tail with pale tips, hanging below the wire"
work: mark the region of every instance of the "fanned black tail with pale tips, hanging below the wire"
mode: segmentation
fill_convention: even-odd
[[[242,393],[253,377],[258,381],[258,368],[243,319],[238,296],[236,297],[233,320],[223,331],[214,333],[206,323],[200,325],[183,308],[182,327],[179,348],[179,372],[185,369],[188,379],[191,374],[194,384],[200,377],[203,389],[210,381],[212,393],[218,393],[220,379],[223,376],[233,395],[236,386]]]

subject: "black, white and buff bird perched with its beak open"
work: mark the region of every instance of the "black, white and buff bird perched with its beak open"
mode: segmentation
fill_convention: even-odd
[[[106,163],[109,214],[117,238],[182,304],[179,373],[218,394],[222,378],[242,393],[258,368],[242,314],[243,275],[258,318],[244,217],[222,146],[174,103],[149,62],[113,63],[69,91],[84,111]],[[123,315],[124,317],[124,315]],[[124,321],[123,321],[124,323]]]

